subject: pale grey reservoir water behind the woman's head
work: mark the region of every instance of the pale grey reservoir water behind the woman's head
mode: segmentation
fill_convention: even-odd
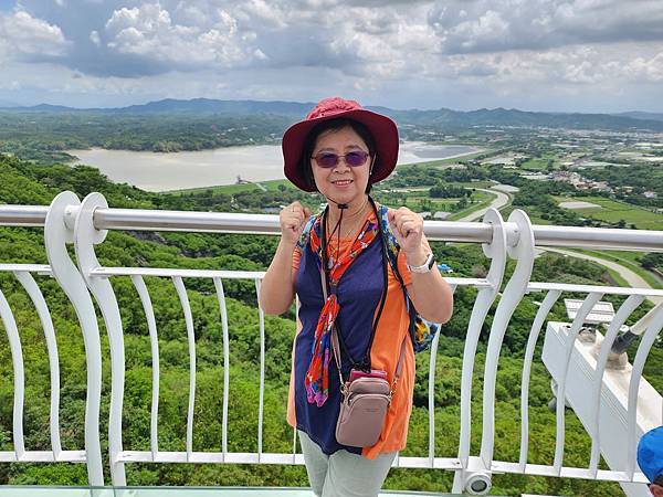
[[[399,165],[462,157],[480,151],[465,145],[429,145],[406,141],[400,145]],[[283,179],[283,156],[278,145],[227,147],[214,150],[157,154],[150,151],[67,150],[75,163],[93,166],[112,181],[134,184],[147,191],[232,184],[244,180]]]

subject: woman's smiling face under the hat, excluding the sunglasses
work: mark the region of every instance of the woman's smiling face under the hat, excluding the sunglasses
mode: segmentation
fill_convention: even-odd
[[[330,129],[318,136],[313,149],[313,157],[320,152],[345,156],[348,152],[368,154],[368,147],[359,135],[350,127]],[[322,194],[337,203],[351,203],[364,198],[368,184],[371,158],[362,166],[350,167],[344,157],[332,168],[322,168],[315,159],[311,159],[311,168],[315,184]]]

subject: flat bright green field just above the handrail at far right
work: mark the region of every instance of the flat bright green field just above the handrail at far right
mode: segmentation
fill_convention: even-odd
[[[656,214],[655,212],[631,205],[630,203],[618,202],[615,200],[604,199],[603,197],[556,197],[555,200],[557,202],[570,202],[577,200],[600,205],[599,208],[573,209],[579,215],[586,218],[593,218],[611,223],[624,220],[627,225],[634,224],[639,230],[663,230],[663,214]]]

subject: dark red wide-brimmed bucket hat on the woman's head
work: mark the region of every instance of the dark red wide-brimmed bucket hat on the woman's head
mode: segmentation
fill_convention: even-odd
[[[304,171],[301,169],[306,137],[318,124],[340,117],[361,123],[368,128],[376,141],[377,157],[370,175],[371,183],[383,180],[396,168],[398,128],[393,120],[381,114],[365,109],[355,101],[346,101],[339,97],[325,98],[308,113],[306,119],[292,125],[283,135],[281,144],[284,159],[283,170],[285,177],[301,190],[315,191],[315,187],[307,184]]]

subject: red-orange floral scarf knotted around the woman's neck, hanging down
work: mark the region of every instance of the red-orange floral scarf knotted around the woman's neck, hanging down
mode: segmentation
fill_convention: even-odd
[[[311,250],[316,254],[318,267],[323,267],[323,248],[320,240],[320,224],[323,215],[318,215],[313,224],[309,236]],[[306,371],[304,379],[304,385],[306,387],[306,396],[308,403],[314,402],[320,408],[327,398],[329,396],[329,360],[332,359],[332,328],[340,311],[338,299],[336,297],[336,290],[338,283],[344,273],[350,267],[350,265],[357,260],[359,254],[367,248],[375,237],[379,234],[378,224],[370,219],[367,219],[364,223],[364,228],[359,232],[355,242],[350,247],[348,254],[343,257],[328,260],[328,273],[327,281],[329,283],[330,292],[327,296],[327,300],[320,310],[317,325],[315,327],[315,340],[312,347],[312,358]]]

